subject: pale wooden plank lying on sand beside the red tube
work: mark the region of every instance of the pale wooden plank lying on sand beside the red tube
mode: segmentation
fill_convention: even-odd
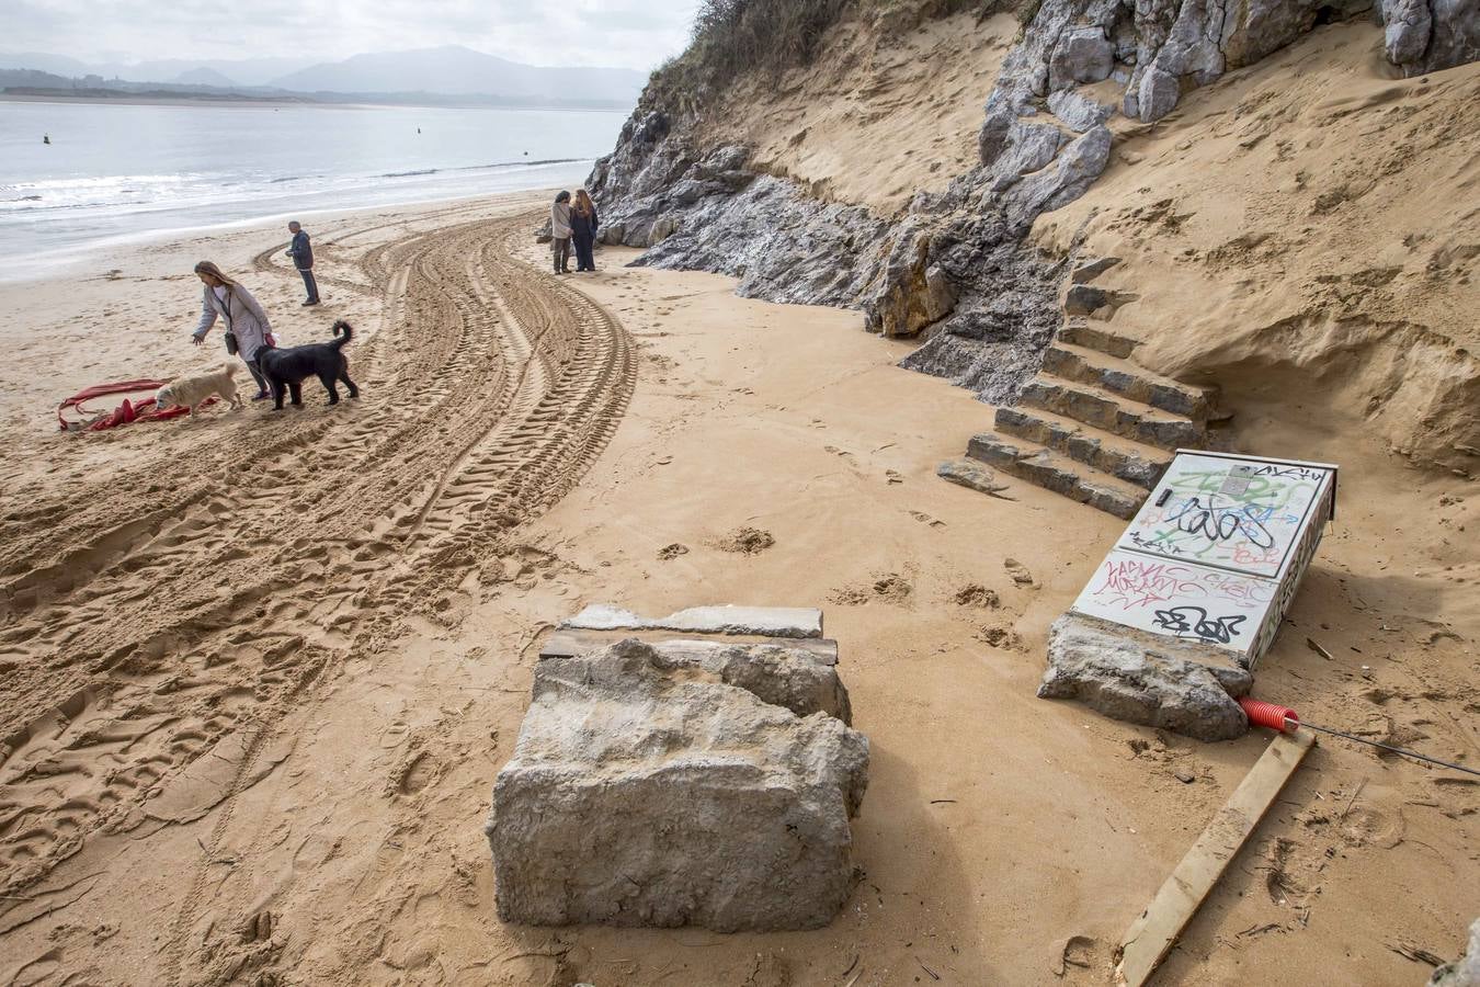
[[[1141,987],[1150,978],[1314,743],[1316,734],[1308,731],[1280,734],[1270,741],[1120,940],[1117,984]]]

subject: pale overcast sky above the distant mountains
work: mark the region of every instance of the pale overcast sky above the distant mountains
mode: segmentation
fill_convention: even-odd
[[[440,44],[533,65],[648,70],[688,41],[699,0],[0,0],[0,46],[83,61],[339,61]]]

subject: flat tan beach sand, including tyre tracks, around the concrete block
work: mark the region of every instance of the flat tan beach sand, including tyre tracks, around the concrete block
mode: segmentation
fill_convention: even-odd
[[[1048,623],[1120,524],[937,479],[992,408],[895,368],[906,346],[854,312],[736,299],[623,250],[556,281],[536,201],[317,223],[317,311],[275,226],[0,289],[0,978],[1104,983],[1267,743],[1033,697]],[[289,342],[360,326],[361,398],[56,434],[80,386],[222,357],[185,339],[198,256],[241,272]],[[1258,691],[1480,761],[1473,484],[1313,420],[1273,451],[1345,469]],[[741,527],[774,545],[722,550]],[[665,561],[672,543],[688,552]],[[481,823],[536,642],[598,601],[824,607],[873,744],[861,879],[832,926],[496,920]],[[1455,775],[1322,744],[1159,983],[1421,983],[1394,950],[1458,953],[1477,809]],[[1072,937],[1088,966],[1064,965]]]

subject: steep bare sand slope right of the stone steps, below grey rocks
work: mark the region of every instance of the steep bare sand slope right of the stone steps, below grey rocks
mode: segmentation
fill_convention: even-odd
[[[1138,297],[1111,327],[1150,367],[1480,476],[1480,62],[1393,80],[1381,47],[1322,28],[1117,118],[1111,166],[1036,232],[1122,257],[1097,284]],[[1248,425],[1246,448],[1288,441]]]

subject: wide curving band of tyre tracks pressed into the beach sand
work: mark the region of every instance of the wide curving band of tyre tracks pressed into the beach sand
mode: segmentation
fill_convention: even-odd
[[[33,540],[49,558],[7,550],[0,715],[25,725],[0,738],[0,919],[93,843],[198,818],[152,806],[188,806],[172,786],[218,747],[243,752],[210,809],[229,814],[258,746],[240,731],[271,734],[346,657],[445,608],[591,468],[633,351],[610,312],[512,256],[531,226],[480,219],[371,250],[363,274],[388,289],[380,331],[351,351],[358,402],[263,413],[231,432],[244,450],[179,432],[192,448],[161,457],[203,465],[136,519],[99,505]],[[502,579],[491,568],[484,582]],[[203,886],[164,951],[176,983],[210,912]]]

